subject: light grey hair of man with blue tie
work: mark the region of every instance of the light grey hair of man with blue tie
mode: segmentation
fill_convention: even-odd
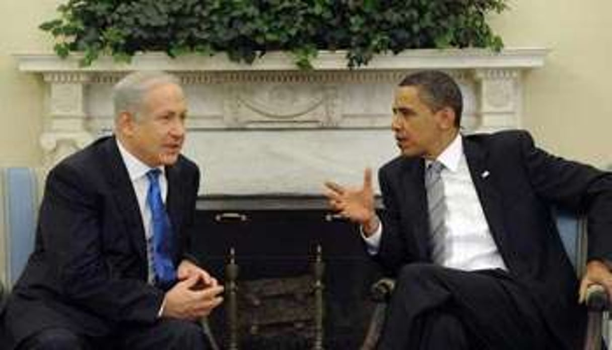
[[[147,91],[168,83],[180,85],[180,80],[175,75],[158,70],[141,70],[126,75],[113,87],[115,117],[129,112],[137,120]]]

